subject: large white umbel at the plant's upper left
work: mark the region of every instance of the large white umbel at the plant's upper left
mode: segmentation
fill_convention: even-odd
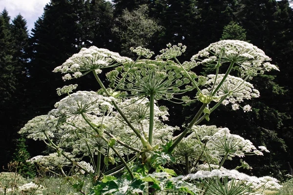
[[[79,78],[91,71],[101,72],[101,69],[117,66],[132,59],[122,57],[118,53],[107,49],[91,46],[82,48],[78,54],[67,59],[62,66],[58,66],[53,72],[68,73],[63,79]]]

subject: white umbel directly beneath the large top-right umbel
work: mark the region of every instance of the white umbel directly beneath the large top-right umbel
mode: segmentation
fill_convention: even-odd
[[[211,91],[213,85],[217,87],[223,77],[223,74],[218,74],[215,81],[216,75],[208,75],[209,80],[206,82],[206,84],[209,86],[208,90]],[[254,89],[251,83],[244,81],[242,78],[228,75],[225,81],[221,84],[222,85],[219,87],[217,92],[215,92],[215,97],[217,98],[217,100],[225,98],[225,100],[222,101],[222,104],[228,105],[229,103],[231,103],[233,110],[239,109],[238,104],[239,102],[243,102],[244,99],[259,97],[259,91]],[[244,106],[243,111],[251,111],[251,106]]]

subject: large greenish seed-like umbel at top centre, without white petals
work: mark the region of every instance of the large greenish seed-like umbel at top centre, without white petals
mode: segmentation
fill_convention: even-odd
[[[119,78],[119,71],[125,77]],[[189,72],[189,75],[196,77],[192,72]],[[169,100],[174,98],[174,95],[193,89],[182,89],[190,80],[184,74],[183,68],[172,61],[145,59],[137,61],[134,66],[133,63],[125,63],[123,70],[116,69],[106,76],[111,81],[111,86],[120,84],[118,88],[129,91],[131,94],[128,97],[147,97],[153,94],[156,100]]]

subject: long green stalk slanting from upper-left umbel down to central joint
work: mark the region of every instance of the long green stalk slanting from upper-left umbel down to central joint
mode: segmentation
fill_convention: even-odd
[[[93,74],[94,74],[95,78],[97,79],[98,83],[100,84],[100,86],[102,87],[102,89],[104,90],[105,94],[108,97],[110,97],[111,95],[109,94],[109,92],[105,88],[103,82],[98,77],[97,73],[95,71],[93,71]],[[145,147],[145,149],[146,150],[151,150],[151,146],[149,145],[149,143],[147,142],[147,140],[143,136],[141,136],[140,133],[133,127],[133,125],[128,120],[128,118],[124,115],[124,113],[121,111],[121,109],[119,108],[119,106],[117,105],[117,103],[114,100],[112,100],[111,102],[113,103],[114,107],[116,108],[116,110],[118,111],[118,113],[121,115],[121,117],[123,117],[123,119],[125,120],[125,122],[127,123],[127,125],[132,129],[132,131],[135,133],[135,135],[142,141],[142,144]]]

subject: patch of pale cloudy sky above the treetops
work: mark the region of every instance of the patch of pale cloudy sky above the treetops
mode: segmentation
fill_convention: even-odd
[[[27,29],[34,28],[34,22],[43,14],[44,6],[50,0],[0,0],[0,12],[4,8],[13,20],[19,13],[27,22]]]

